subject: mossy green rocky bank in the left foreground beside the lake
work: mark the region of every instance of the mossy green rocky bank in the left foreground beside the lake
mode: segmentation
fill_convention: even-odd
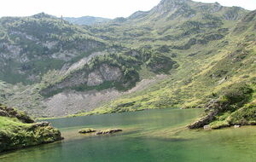
[[[32,123],[32,119],[25,113],[3,105],[1,105],[1,112],[0,152],[62,139],[61,132],[48,122]]]

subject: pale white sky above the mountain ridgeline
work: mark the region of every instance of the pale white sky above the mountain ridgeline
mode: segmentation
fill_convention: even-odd
[[[224,6],[256,9],[256,0],[194,0],[204,3],[218,2]],[[147,11],[160,0],[1,0],[0,17],[29,16],[44,12],[58,17],[84,15],[116,18],[128,17],[137,10]]]

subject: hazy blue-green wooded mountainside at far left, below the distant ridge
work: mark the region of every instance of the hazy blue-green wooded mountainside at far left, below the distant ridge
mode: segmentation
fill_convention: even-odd
[[[0,21],[0,78],[11,84],[38,81],[38,74],[61,69],[106,45],[79,26],[44,13]]]

